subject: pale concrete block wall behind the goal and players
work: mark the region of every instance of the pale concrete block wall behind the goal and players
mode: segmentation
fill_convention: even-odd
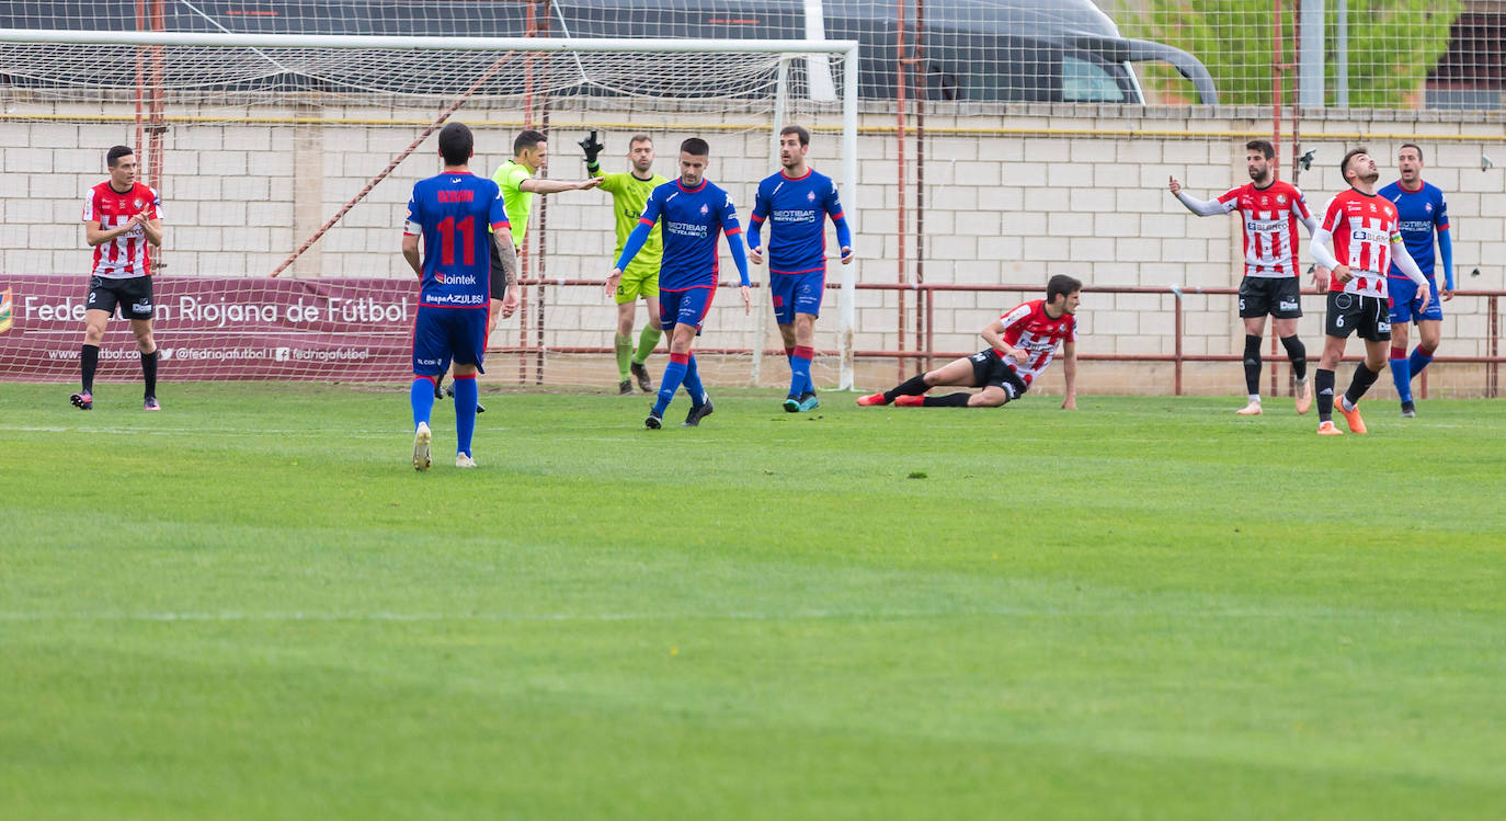
[[[128,114],[130,108],[98,108]],[[9,179],[5,223],[0,224],[0,270],[86,273],[89,256],[78,223],[83,196],[104,179],[104,152],[131,142],[128,122],[24,119],[56,110],[15,110],[0,121],[0,167]],[[267,111],[241,111],[268,116]],[[367,185],[420,127],[411,111],[358,108],[300,108],[286,116],[345,118],[349,125],[262,125],[252,122],[170,125],[164,136],[161,194],[167,215],[163,261],[173,274],[265,276],[313,229]],[[215,116],[224,116],[218,111]],[[271,116],[277,116],[273,113]],[[1229,217],[1197,218],[1166,191],[1169,175],[1182,179],[1196,196],[1211,197],[1245,181],[1242,143],[1270,134],[1265,110],[1142,110],[1123,107],[1012,107],[965,111],[937,104],[928,114],[925,143],[925,223],[928,282],[1044,283],[1051,273],[1069,273],[1090,285],[1185,288],[1238,285],[1241,247],[1238,221]],[[476,166],[491,172],[511,151],[518,113],[468,108],[462,118],[477,133]],[[831,111],[801,118],[822,127],[810,151],[812,164],[840,178],[839,125]],[[625,124],[633,124],[631,127]],[[867,111],[860,137],[860,182],[845,190],[849,215],[858,223],[855,274],[860,282],[895,282],[899,277],[895,116]],[[622,155],[633,128],[652,133],[660,149],[657,170],[675,175],[675,148],[697,134],[712,145],[709,178],[727,188],[747,214],[758,179],[771,173],[768,121],[758,114],[681,111],[551,111],[554,160],[550,176],[583,175],[575,148],[586,130],[598,128],[607,142],[607,169],[625,167]],[[1426,151],[1425,178],[1447,197],[1455,237],[1455,265],[1461,288],[1506,288],[1506,169],[1480,169],[1483,155],[1506,166],[1506,127],[1498,116],[1426,111],[1315,113],[1301,122],[1304,149],[1318,161],[1298,179],[1313,211],[1342,188],[1337,160],[1352,145],[1367,145],[1383,161],[1383,182],[1395,178],[1392,158],[1402,142],[1420,142]],[[1283,146],[1285,148],[1285,146]],[[914,137],[907,142],[913,157]],[[411,276],[398,243],[411,184],[438,170],[435,146],[425,143],[398,164],[354,206],[340,224],[294,268],[295,276]],[[913,164],[913,161],[911,161]],[[1283,154],[1283,178],[1289,178]],[[914,169],[910,191],[913,196]],[[530,227],[533,265],[556,277],[601,277],[611,265],[610,197],[596,191],[548,197],[535,206]],[[852,205],[857,203],[857,208]],[[547,224],[541,226],[541,215]],[[548,252],[538,253],[539,241]],[[910,253],[914,252],[913,238]],[[834,238],[830,243],[834,246]],[[1304,253],[1306,261],[1306,253]],[[913,264],[910,271],[913,271]],[[831,277],[839,276],[833,264]],[[1479,276],[1471,276],[1479,270]],[[723,250],[724,277],[733,277]],[[755,268],[755,279],[762,279]],[[934,333],[938,351],[971,351],[980,328],[1020,298],[1035,294],[944,292],[935,297]],[[860,291],[857,301],[858,349],[893,349],[901,345],[899,297]],[[717,297],[703,345],[751,348],[761,333],[774,346],[768,321],[745,316],[736,292]],[[907,298],[907,340],[913,342],[914,298]],[[1173,304],[1166,295],[1090,294],[1081,313],[1081,353],[1169,354],[1173,351]],[[1242,345],[1232,297],[1190,294],[1184,298],[1184,351],[1235,354]],[[1307,316],[1301,334],[1321,334],[1321,297],[1304,297]],[[1485,300],[1456,298],[1446,306],[1446,354],[1485,354]],[[613,307],[595,288],[550,286],[545,295],[550,345],[610,346]],[[639,322],[642,324],[642,313]],[[818,325],[818,345],[836,346],[836,295],[828,294]],[[498,330],[494,345],[518,340],[518,319]],[[1357,348],[1357,345],[1355,345]],[[1315,349],[1310,345],[1310,349]],[[1313,354],[1316,356],[1316,353]],[[607,365],[595,366],[608,372]],[[831,378],[834,363],[821,363]],[[864,368],[869,384],[889,381],[892,363]],[[553,369],[563,378],[571,368]],[[1104,375],[1089,384],[1089,374]],[[1111,365],[1084,371],[1084,390],[1163,392],[1170,380],[1163,366]],[[1205,374],[1206,375],[1200,375]],[[1456,372],[1459,380],[1449,380]],[[590,368],[583,380],[592,381]],[[783,363],[771,363],[773,381]],[[1057,374],[1059,377],[1059,374]],[[608,380],[610,381],[610,380]],[[1050,383],[1048,383],[1050,384]],[[1238,366],[1230,363],[1188,372],[1194,390],[1242,392]],[[1440,368],[1435,384],[1468,393],[1483,383],[1474,372]],[[1149,387],[1148,387],[1149,386]]]

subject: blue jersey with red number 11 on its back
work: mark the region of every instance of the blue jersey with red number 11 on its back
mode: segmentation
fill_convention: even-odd
[[[419,304],[491,304],[491,229],[509,227],[501,188],[470,172],[449,172],[413,185],[402,232],[423,235]]]

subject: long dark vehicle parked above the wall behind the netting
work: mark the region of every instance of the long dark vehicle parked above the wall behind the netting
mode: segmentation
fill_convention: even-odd
[[[0,3],[0,27],[110,27],[134,21],[136,0]],[[542,5],[492,0],[197,0],[167,3],[169,32],[294,35],[523,36]],[[6,9],[23,8],[24,15]],[[807,20],[819,9],[819,26]],[[575,38],[855,39],[858,95],[896,93],[895,5],[876,0],[553,0],[548,35]],[[736,9],[735,14],[729,9]],[[53,12],[56,23],[48,20]],[[14,20],[12,20],[14,18]],[[134,26],[133,26],[134,27]],[[824,32],[819,32],[824,29]],[[913,38],[914,32],[908,33]],[[908,39],[907,38],[907,39]],[[913,41],[911,41],[913,42]],[[1145,102],[1133,71],[1164,62],[1218,101],[1208,69],[1169,45],[1125,39],[1090,0],[925,0],[923,81],[910,93],[985,102]],[[922,90],[923,89],[923,90]],[[610,93],[610,89],[581,89]]]

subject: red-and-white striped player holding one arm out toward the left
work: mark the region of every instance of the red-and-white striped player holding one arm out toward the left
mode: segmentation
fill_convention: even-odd
[[[1297,262],[1297,223],[1307,226],[1312,237],[1318,220],[1307,211],[1307,199],[1295,185],[1276,179],[1276,148],[1268,140],[1250,140],[1245,148],[1245,170],[1250,182],[1224,191],[1214,200],[1188,196],[1182,184],[1170,179],[1172,194],[1199,217],[1239,211],[1244,217],[1244,279],[1239,280],[1239,318],[1244,319],[1244,387],[1248,404],[1239,416],[1261,416],[1261,337],[1265,316],[1276,322],[1276,336],[1286,348],[1297,378],[1297,413],[1307,413],[1313,404],[1307,381],[1307,348],[1297,337],[1297,319],[1303,315],[1301,280]]]

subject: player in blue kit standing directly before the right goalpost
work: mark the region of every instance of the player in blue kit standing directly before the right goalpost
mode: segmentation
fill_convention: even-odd
[[[768,285],[774,298],[774,321],[785,339],[789,360],[789,396],[785,410],[809,411],[821,405],[810,381],[815,357],[816,316],[827,288],[825,217],[837,229],[842,264],[852,262],[852,233],[842,215],[837,184],[806,164],[810,133],[786,125],[779,133],[779,164],[783,169],[758,185],[753,215],[748,217],[748,258],[764,264],[759,227],[768,220]]]

